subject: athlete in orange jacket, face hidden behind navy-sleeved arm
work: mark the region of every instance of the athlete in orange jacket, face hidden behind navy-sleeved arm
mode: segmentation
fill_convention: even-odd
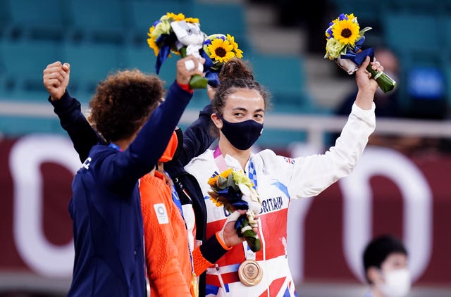
[[[187,234],[180,201],[171,178],[163,171],[163,162],[173,158],[177,146],[174,132],[159,160],[159,170],[140,179],[144,248],[152,297],[197,297],[197,276],[243,240],[237,236],[233,222],[245,210],[230,215],[220,232],[192,251],[194,241],[189,240],[193,237]]]

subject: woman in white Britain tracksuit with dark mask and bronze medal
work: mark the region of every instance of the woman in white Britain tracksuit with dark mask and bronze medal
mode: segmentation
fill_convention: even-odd
[[[383,71],[376,60],[372,68]],[[209,200],[207,180],[236,168],[254,181],[262,201],[259,213],[261,249],[252,252],[244,241],[207,270],[206,296],[297,296],[287,259],[287,215],[290,198],[316,196],[349,175],[375,129],[373,96],[378,88],[369,78],[369,58],[356,72],[357,94],[352,112],[335,146],[323,155],[277,156],[271,150],[252,153],[263,129],[268,94],[254,80],[225,80],[212,101],[211,119],[219,130],[218,147],[185,166],[197,178],[207,210],[207,237],[221,230],[224,208]]]

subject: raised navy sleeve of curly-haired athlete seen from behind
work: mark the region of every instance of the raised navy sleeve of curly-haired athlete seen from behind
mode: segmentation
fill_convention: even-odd
[[[112,189],[134,187],[137,179],[155,167],[191,97],[174,82],[166,100],[152,112],[130,146],[102,160],[97,175],[100,181]]]

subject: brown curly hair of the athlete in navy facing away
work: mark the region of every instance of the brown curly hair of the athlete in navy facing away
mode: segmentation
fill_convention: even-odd
[[[140,70],[118,70],[99,82],[89,122],[106,141],[132,137],[163,101],[163,81]]]

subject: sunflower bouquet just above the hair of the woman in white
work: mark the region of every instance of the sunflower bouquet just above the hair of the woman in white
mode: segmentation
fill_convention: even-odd
[[[224,63],[233,57],[242,58],[242,50],[238,48],[235,37],[230,34],[211,34],[204,40],[203,51],[206,55],[205,77],[212,87],[218,87],[218,72]]]

